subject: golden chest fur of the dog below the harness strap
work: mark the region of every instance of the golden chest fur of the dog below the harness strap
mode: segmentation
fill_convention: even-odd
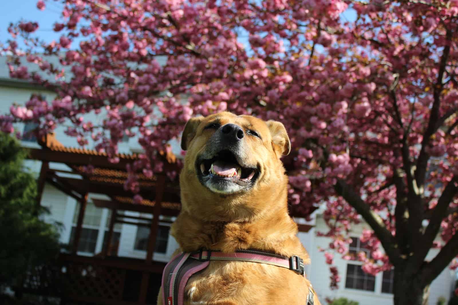
[[[212,261],[189,279],[185,305],[303,305],[308,281],[290,270],[261,263]],[[305,293],[305,294],[304,294]]]

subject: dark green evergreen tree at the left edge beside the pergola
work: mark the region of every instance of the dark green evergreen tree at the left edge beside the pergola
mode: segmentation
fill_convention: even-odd
[[[18,141],[0,133],[0,288],[20,283],[29,268],[59,253],[58,226],[42,220],[37,184],[23,170],[27,155]]]

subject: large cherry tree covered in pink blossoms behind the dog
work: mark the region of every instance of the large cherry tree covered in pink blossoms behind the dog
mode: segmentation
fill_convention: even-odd
[[[135,190],[136,172],[164,171],[156,152],[191,116],[279,120],[293,147],[284,158],[291,209],[326,204],[334,287],[333,252],[350,257],[361,220],[371,255],[357,258],[367,273],[394,267],[397,305],[426,304],[431,281],[453,259],[457,267],[458,0],[55,2],[58,41],[20,21],[3,51],[12,77],[57,97],[11,107],[2,131],[71,122],[69,136],[92,137],[113,162],[122,136],[138,136],[145,153],[125,185]],[[102,110],[100,126],[84,121]],[[431,248],[438,254],[426,261]]]

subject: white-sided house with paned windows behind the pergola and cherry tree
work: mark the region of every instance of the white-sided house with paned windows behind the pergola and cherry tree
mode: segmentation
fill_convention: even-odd
[[[24,81],[11,79],[9,77],[8,68],[5,64],[5,57],[0,58],[0,114],[9,112],[9,108],[13,103],[24,103],[32,93],[39,93],[51,100],[54,96],[53,92],[44,90],[43,88],[34,86]],[[97,122],[103,119],[103,116],[87,116],[87,120]],[[30,130],[33,126],[16,124],[15,128],[19,131]],[[63,127],[58,127],[55,131],[56,138],[67,147],[77,147],[76,140],[67,137]],[[22,140],[24,147],[39,148],[36,140],[26,138]],[[91,144],[89,144],[91,145]],[[179,151],[177,143],[174,147]],[[125,142],[120,144],[121,153],[133,153],[141,150],[141,147],[136,143],[135,138],[125,139]],[[39,174],[41,162],[27,160],[25,166],[31,172]],[[65,165],[60,163],[50,163],[50,168],[68,170]],[[79,178],[79,177],[75,177]],[[86,208],[85,217],[83,220],[83,230],[81,232],[78,254],[85,256],[93,256],[102,251],[103,244],[106,242],[106,233],[109,227],[110,211],[108,209],[97,208],[91,202],[91,199],[105,199],[100,195],[89,194],[89,202]],[[49,207],[51,215],[47,217],[47,221],[58,221],[63,224],[60,241],[62,243],[70,243],[72,232],[76,226],[78,219],[78,203],[75,199],[65,195],[60,190],[50,184],[44,187],[41,204]],[[131,216],[147,216],[137,212],[125,212]],[[379,273],[376,277],[363,273],[361,263],[356,261],[346,261],[335,256],[335,265],[341,275],[339,289],[330,290],[330,273],[329,266],[325,263],[325,258],[319,248],[327,248],[330,239],[326,237],[316,237],[316,231],[326,231],[326,225],[322,220],[319,210],[315,212],[315,226],[307,233],[300,232],[299,237],[305,248],[310,254],[311,265],[307,266],[306,272],[314,285],[316,292],[320,296],[322,302],[326,297],[340,298],[345,297],[349,300],[355,300],[360,305],[384,305],[393,303],[393,273]],[[147,216],[148,217],[148,216]],[[149,216],[150,217],[150,216]],[[303,220],[298,220],[301,222]],[[169,222],[159,222],[158,240],[156,243],[153,260],[167,262],[172,255],[172,252],[177,247],[174,238],[169,236]],[[356,226],[352,236],[351,251],[364,251],[360,247],[358,237],[364,224]],[[147,237],[149,228],[135,226],[131,224],[117,224],[114,227],[114,238],[119,240],[118,256],[131,258],[145,258],[147,248]],[[431,250],[430,257],[435,255],[436,250]],[[456,279],[456,274],[449,269],[445,269],[440,276],[435,279],[431,285],[431,296],[429,299],[430,305],[436,305],[439,297],[445,297],[447,300],[450,297],[452,288]]]

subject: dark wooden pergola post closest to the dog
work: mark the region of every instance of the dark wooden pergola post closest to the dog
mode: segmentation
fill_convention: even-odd
[[[161,215],[161,203],[162,203],[162,197],[164,195],[164,186],[165,186],[165,175],[160,175],[158,176],[158,180],[156,182],[156,198],[154,202],[153,219],[151,221],[151,227],[150,227],[149,236],[148,236],[148,247],[147,247],[147,254],[146,254],[146,263],[147,264],[151,264],[153,261],[154,247],[156,246],[156,236],[157,236],[158,226],[159,226],[159,215]],[[150,273],[143,272],[142,283],[140,285],[140,297],[138,299],[140,304],[146,304],[146,295],[148,291],[149,278],[150,278]]]

